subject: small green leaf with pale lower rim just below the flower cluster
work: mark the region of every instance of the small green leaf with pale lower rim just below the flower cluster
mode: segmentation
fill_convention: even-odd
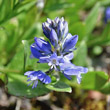
[[[69,93],[72,92],[71,87],[61,81],[58,81],[57,83],[48,84],[48,85],[46,85],[46,87],[50,90],[54,90],[57,92],[69,92]]]

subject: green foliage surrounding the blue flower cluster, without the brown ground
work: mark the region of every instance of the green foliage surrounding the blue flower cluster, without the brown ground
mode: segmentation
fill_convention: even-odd
[[[110,0],[0,0],[0,79],[8,92],[28,98],[53,90],[71,92],[70,86],[77,86],[74,77],[68,81],[61,76],[62,82],[52,78],[51,84],[39,83],[34,90],[27,86],[25,71],[48,70],[48,65],[37,64],[36,59],[29,58],[29,46],[35,36],[44,37],[42,23],[47,18],[63,16],[69,24],[69,32],[79,35],[73,63],[91,71],[89,49],[94,50],[92,55],[95,56],[110,45],[110,23],[105,24],[103,20],[104,10],[109,5]],[[95,29],[101,32],[96,34]],[[110,94],[110,76],[92,70],[82,75],[80,88]]]

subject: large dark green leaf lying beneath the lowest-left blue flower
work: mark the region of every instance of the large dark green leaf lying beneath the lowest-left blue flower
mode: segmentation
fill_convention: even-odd
[[[42,96],[50,91],[40,82],[37,87],[32,89],[32,86],[27,86],[27,77],[20,74],[8,74],[8,84],[6,85],[8,92],[19,97],[32,98]]]

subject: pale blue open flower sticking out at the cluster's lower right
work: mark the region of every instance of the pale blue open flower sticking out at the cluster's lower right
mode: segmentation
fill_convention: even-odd
[[[75,75],[77,76],[77,82],[80,84],[81,82],[81,73],[87,73],[88,69],[81,66],[75,66],[72,63],[61,63],[60,64],[60,70],[64,74],[64,76],[71,80],[71,76]]]

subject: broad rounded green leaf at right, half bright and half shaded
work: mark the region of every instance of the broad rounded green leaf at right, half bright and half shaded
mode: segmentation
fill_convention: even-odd
[[[108,75],[101,71],[88,72],[82,74],[81,88],[87,90],[98,90],[105,85],[108,80]]]

